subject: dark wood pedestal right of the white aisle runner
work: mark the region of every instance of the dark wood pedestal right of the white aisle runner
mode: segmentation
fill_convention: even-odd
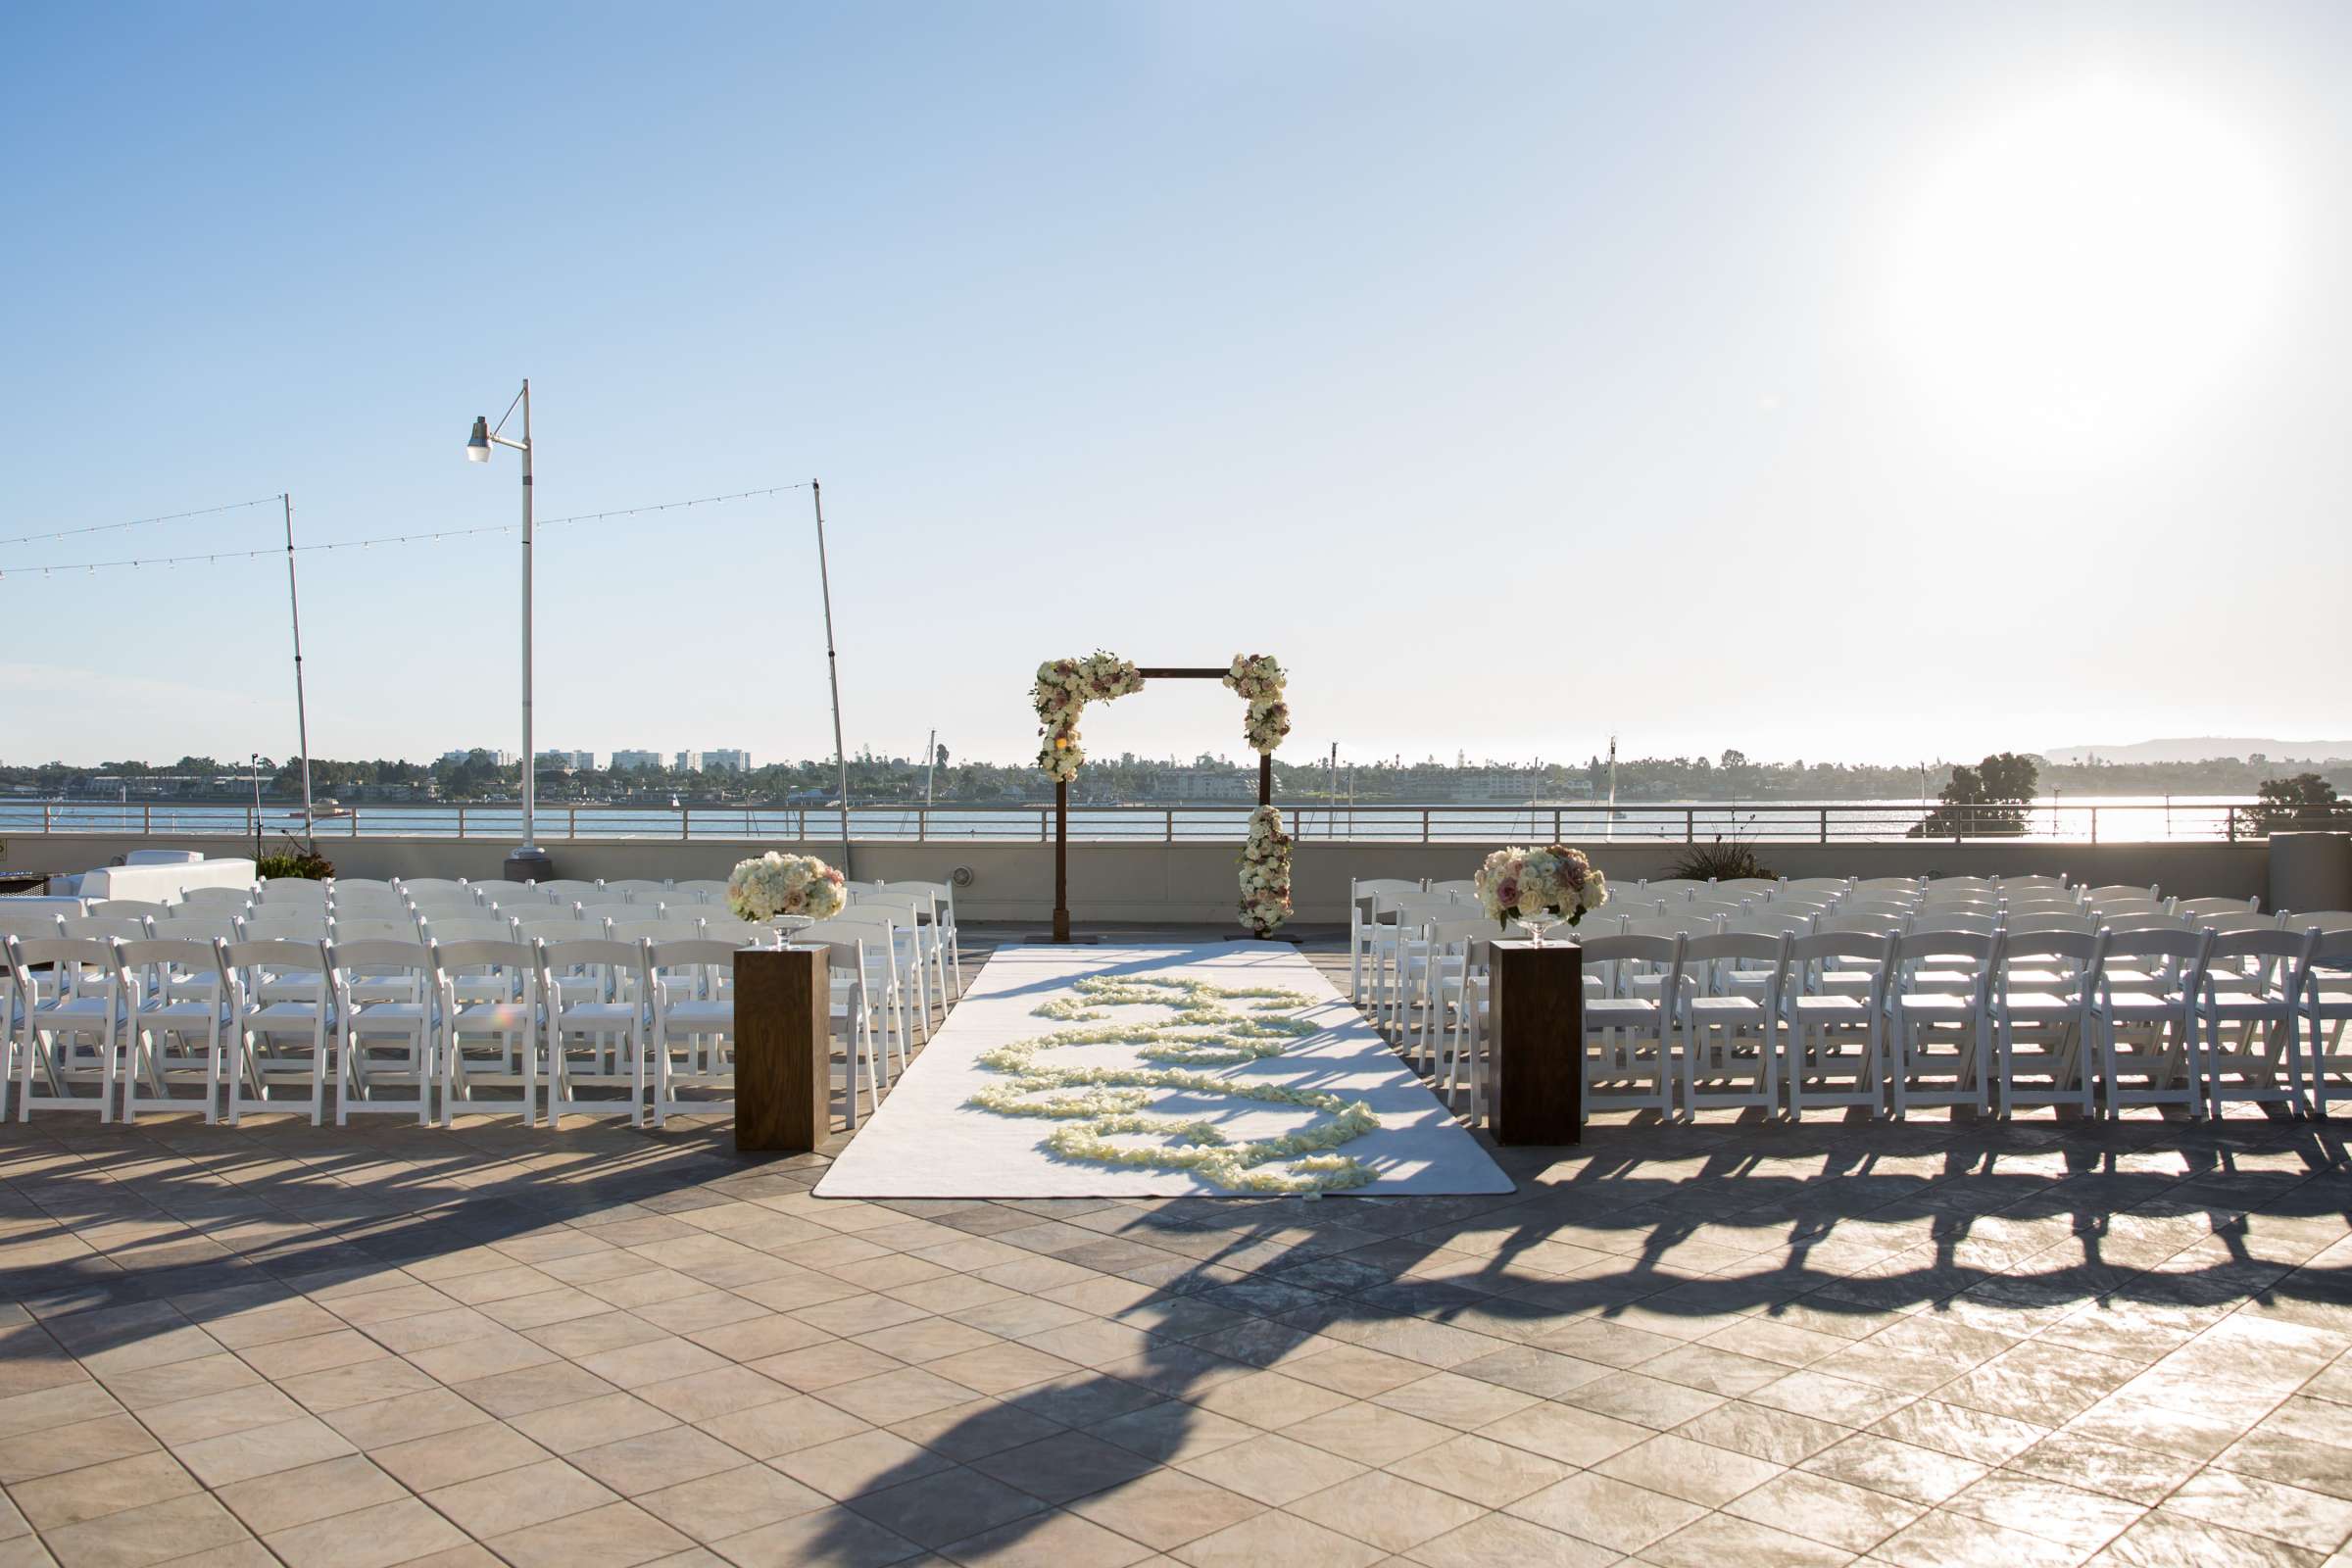
[[[1496,1143],[1562,1145],[1585,1135],[1585,950],[1491,943]]]

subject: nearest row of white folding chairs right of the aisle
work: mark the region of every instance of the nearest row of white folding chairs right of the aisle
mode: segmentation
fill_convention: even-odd
[[[1973,966],[1952,971],[1955,957]],[[2211,1114],[2230,1100],[2324,1114],[2328,1072],[2352,1070],[2343,1053],[2352,990],[2324,990],[2317,966],[2343,957],[2352,926],[1602,936],[1585,940],[1602,985],[1585,1004],[1585,1105],[1675,1114],[1679,1093],[1684,1114],[1778,1107],[1785,1074],[1790,1114],[1806,1105],[2009,1114],[2018,1103]],[[2213,985],[2213,966],[2232,959],[2267,959],[2284,976],[2253,992]],[[1837,985],[1849,973],[1839,961],[1867,964],[1865,994]],[[1475,978],[1449,985],[1458,1011],[1439,1070],[1456,1100],[1468,1077],[1472,1117],[1486,1103],[1479,990]]]

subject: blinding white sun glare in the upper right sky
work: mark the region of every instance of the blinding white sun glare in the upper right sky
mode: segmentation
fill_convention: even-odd
[[[1959,136],[1893,230],[1893,348],[1955,433],[2114,454],[2171,433],[2272,317],[2279,169],[2206,101],[2098,78]]]

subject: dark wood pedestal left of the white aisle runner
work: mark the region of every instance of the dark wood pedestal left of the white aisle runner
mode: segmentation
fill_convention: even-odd
[[[823,950],[736,952],[736,1152],[807,1154],[833,1131]]]

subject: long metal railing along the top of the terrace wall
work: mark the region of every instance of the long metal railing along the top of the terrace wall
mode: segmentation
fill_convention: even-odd
[[[2030,806],[1919,802],[1597,802],[1538,804],[1338,804],[1282,802],[1294,839],[1381,844],[1569,842],[1752,844],[1844,842],[2234,842],[2286,827],[2352,827],[2352,818],[2288,818],[2249,799],[2044,799]],[[1098,844],[1240,842],[1244,802],[1073,804],[1070,837]],[[0,802],[5,835],[219,837],[282,844],[301,835],[301,809],[186,802]],[[487,804],[339,806],[315,823],[322,839],[520,839],[522,809]],[[541,806],[536,839],[776,839],[840,837],[840,806]],[[1049,804],[866,804],[849,835],[882,842],[1051,842]]]

